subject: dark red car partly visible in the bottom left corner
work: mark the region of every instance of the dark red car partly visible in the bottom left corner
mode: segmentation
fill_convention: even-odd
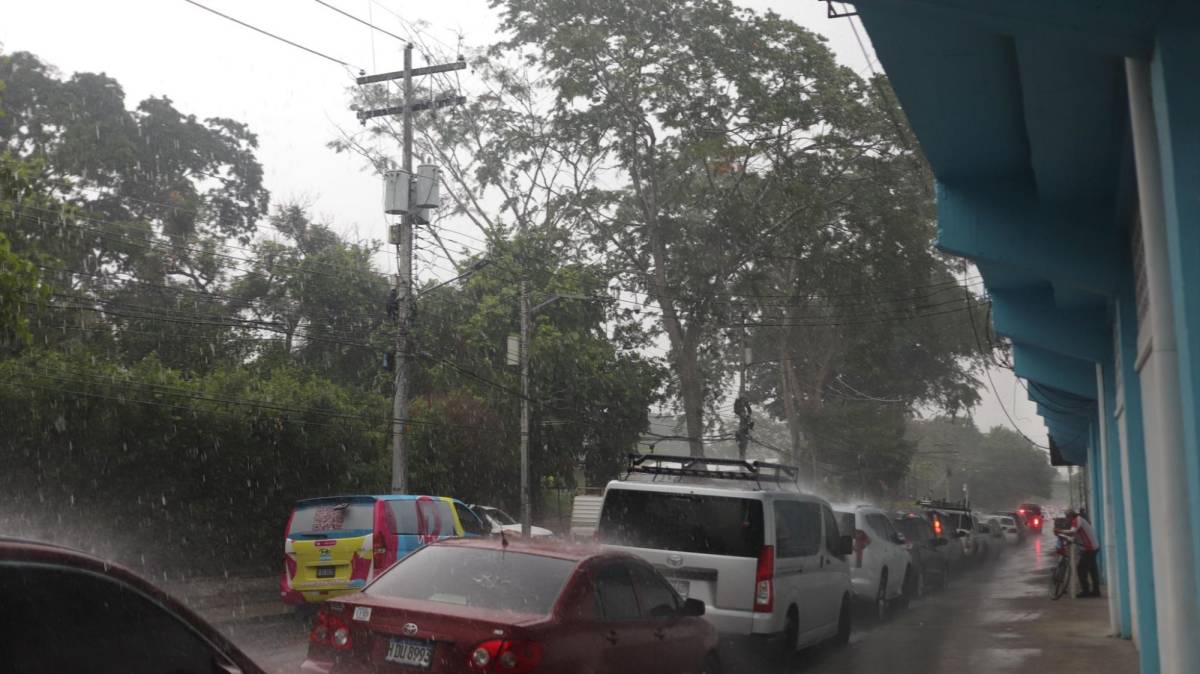
[[[263,672],[158,588],[70,548],[0,538],[0,603],[5,672]]]

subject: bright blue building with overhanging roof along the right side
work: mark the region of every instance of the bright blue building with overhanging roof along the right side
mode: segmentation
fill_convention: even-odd
[[[1200,4],[858,0],[1055,453],[1115,634],[1200,672]]]

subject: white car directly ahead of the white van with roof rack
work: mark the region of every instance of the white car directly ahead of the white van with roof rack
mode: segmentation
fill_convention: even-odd
[[[838,524],[854,532],[851,582],[854,597],[871,602],[878,618],[894,603],[904,606],[913,590],[916,571],[904,535],[888,514],[869,505],[835,506]]]

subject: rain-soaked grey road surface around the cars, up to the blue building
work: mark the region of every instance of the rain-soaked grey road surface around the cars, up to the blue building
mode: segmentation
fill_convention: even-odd
[[[845,649],[817,648],[788,662],[722,654],[727,674],[1126,674],[1136,672],[1129,642],[1105,638],[1105,600],[1048,596],[1052,537],[1009,547],[983,568],[959,574],[906,612],[878,621],[857,610]],[[235,628],[230,636],[269,672],[304,660],[299,620]]]

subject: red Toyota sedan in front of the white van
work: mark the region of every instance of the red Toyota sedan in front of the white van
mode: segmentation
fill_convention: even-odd
[[[449,540],[325,602],[302,670],[715,674],[703,613],[626,553]]]

